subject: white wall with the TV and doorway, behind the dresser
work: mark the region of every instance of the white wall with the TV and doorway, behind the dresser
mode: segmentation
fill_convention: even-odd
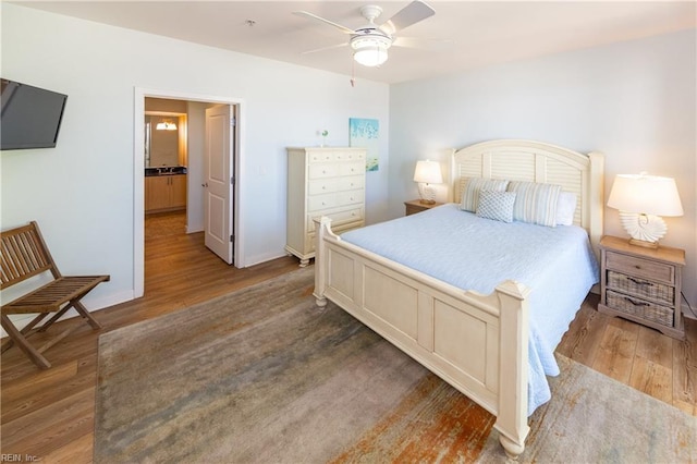
[[[111,27],[15,4],[2,9],[2,76],[68,94],[54,149],[2,151],[1,227],[37,220],[64,273],[109,273],[94,309],[133,296],[134,88],[245,102],[246,265],[283,256],[286,146],[347,145],[348,119],[386,136],[389,88],[348,76]],[[367,216],[387,210],[387,169],[368,173]],[[4,295],[3,295],[4,296]]]

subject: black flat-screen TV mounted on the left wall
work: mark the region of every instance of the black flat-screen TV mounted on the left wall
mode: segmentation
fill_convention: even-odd
[[[0,80],[0,150],[56,147],[68,96]]]

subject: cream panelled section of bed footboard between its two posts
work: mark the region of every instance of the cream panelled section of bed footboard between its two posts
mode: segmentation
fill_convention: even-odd
[[[327,248],[325,296],[496,414],[499,319],[345,249]],[[464,293],[464,292],[463,292]]]

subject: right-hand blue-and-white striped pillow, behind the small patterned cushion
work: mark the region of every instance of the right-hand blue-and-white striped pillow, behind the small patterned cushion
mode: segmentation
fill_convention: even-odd
[[[509,192],[515,192],[513,219],[553,228],[557,225],[557,204],[561,185],[511,181]]]

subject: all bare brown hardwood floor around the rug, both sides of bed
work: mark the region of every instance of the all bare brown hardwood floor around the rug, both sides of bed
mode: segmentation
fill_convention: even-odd
[[[148,218],[145,296],[95,313],[103,325],[100,332],[76,320],[58,322],[83,327],[46,352],[53,367],[44,371],[15,347],[2,354],[3,455],[19,453],[23,462],[34,456],[44,463],[90,463],[99,333],[297,269],[291,257],[247,269],[230,267],[206,249],[201,233],[183,234],[179,216]],[[697,415],[697,321],[687,320],[687,338],[677,341],[599,314],[596,304],[597,297],[589,296],[558,352]]]

